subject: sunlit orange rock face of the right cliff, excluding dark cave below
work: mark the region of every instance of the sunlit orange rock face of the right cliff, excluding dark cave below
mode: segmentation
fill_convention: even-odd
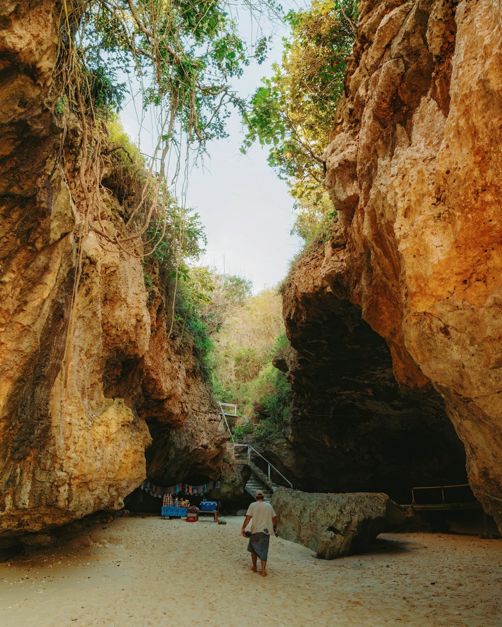
[[[501,93],[500,3],[361,1],[326,150],[338,230],[285,301],[297,320],[317,277],[319,298],[350,300],[386,340],[403,389],[434,386],[499,528]]]

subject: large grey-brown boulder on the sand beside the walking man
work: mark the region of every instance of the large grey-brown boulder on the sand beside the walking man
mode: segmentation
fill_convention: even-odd
[[[399,510],[382,492],[321,494],[278,488],[270,503],[280,535],[315,551],[321,559],[364,551],[388,529],[388,518],[395,518]]]

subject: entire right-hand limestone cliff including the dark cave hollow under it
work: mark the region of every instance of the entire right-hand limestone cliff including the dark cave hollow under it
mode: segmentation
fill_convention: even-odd
[[[324,476],[358,461],[356,489],[384,489],[396,458],[397,483],[446,483],[461,478],[446,410],[499,527],[501,93],[499,1],[361,1],[326,150],[338,223],[284,298],[292,445]]]

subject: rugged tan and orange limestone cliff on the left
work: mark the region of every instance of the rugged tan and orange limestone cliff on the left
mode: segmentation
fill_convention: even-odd
[[[4,535],[119,508],[146,477],[149,445],[154,482],[218,478],[226,440],[193,341],[176,327],[168,337],[169,288],[148,294],[141,257],[86,228],[83,129],[55,114],[60,11],[0,7]],[[110,189],[100,202],[103,228],[125,228]]]

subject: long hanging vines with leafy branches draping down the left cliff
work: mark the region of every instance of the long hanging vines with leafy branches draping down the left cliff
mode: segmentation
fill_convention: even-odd
[[[226,136],[231,107],[245,111],[245,102],[232,88],[232,78],[242,74],[250,58],[260,62],[267,48],[260,29],[250,45],[238,34],[238,12],[243,10],[259,24],[264,13],[273,17],[280,7],[275,0],[61,0],[55,113],[68,110],[82,125],[77,199],[83,220],[76,230],[77,269],[67,364],[86,236],[92,231],[109,250],[137,257],[152,255],[164,241],[173,217],[168,211],[170,184],[183,171],[182,198],[173,228],[176,292],[190,151],[204,151],[208,140]],[[142,111],[154,111],[158,139],[151,158],[144,163],[141,193],[122,228],[117,228],[102,219],[102,198],[109,193],[102,184],[105,157],[117,148],[109,145],[106,124],[127,95],[128,77],[132,77],[129,85],[138,86]],[[174,310],[171,331],[173,323]]]

